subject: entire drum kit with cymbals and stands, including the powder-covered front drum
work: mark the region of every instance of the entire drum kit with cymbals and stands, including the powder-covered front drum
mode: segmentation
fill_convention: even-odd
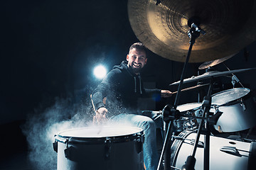
[[[184,62],[181,80],[170,84],[178,85],[174,106],[166,105],[161,111],[166,135],[157,169],[163,164],[165,170],[255,169],[254,140],[219,137],[210,130],[229,133],[255,127],[252,93],[235,77],[235,73],[255,68],[209,71],[188,79],[184,74],[188,62],[203,62],[198,69],[224,64],[256,40],[256,0],[129,0],[128,15],[135,35],[149,50]],[[229,74],[233,74],[233,86],[239,83],[242,87],[211,94],[213,79]],[[210,83],[181,89],[182,84],[201,80]],[[204,87],[208,93],[202,103],[178,105],[181,91]],[[178,128],[181,132],[175,135]],[[100,133],[97,128],[72,129],[55,135],[58,169],[142,170],[143,131],[103,129]]]

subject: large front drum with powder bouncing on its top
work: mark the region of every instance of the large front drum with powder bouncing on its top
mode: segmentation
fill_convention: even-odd
[[[132,127],[75,128],[55,135],[58,170],[143,169],[143,130]]]

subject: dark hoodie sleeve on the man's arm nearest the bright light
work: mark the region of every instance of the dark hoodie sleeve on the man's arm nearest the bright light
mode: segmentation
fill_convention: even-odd
[[[105,107],[103,98],[107,97],[107,93],[111,91],[110,89],[114,82],[114,74],[116,74],[114,70],[110,71],[97,88],[92,91],[92,102],[96,111],[99,108]]]

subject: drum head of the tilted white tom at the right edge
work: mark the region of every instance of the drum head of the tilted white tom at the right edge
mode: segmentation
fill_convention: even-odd
[[[221,106],[223,104],[242,98],[249,93],[250,89],[247,88],[235,88],[220,91],[219,93],[212,95],[212,103]]]

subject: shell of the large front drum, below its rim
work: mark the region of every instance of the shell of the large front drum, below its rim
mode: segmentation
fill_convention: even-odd
[[[138,132],[142,135],[142,130]],[[60,133],[61,134],[61,133]],[[81,140],[68,142],[69,155],[66,157],[65,149],[67,144],[58,141],[58,170],[142,170],[144,166],[143,151],[138,152],[137,140],[131,140],[137,134],[125,135],[122,137],[106,137],[109,139],[109,145],[104,141],[105,137],[81,137]],[[116,140],[118,138],[120,141]],[[139,138],[139,136],[138,136]],[[76,137],[77,139],[77,137]],[[115,141],[114,141],[115,140]],[[93,142],[95,141],[95,142]],[[100,142],[99,142],[100,141]],[[102,141],[102,142],[101,142]],[[114,142],[113,142],[114,141]],[[109,146],[110,148],[107,148]],[[142,147],[142,145],[141,145]],[[106,157],[106,151],[109,149],[109,157]]]

